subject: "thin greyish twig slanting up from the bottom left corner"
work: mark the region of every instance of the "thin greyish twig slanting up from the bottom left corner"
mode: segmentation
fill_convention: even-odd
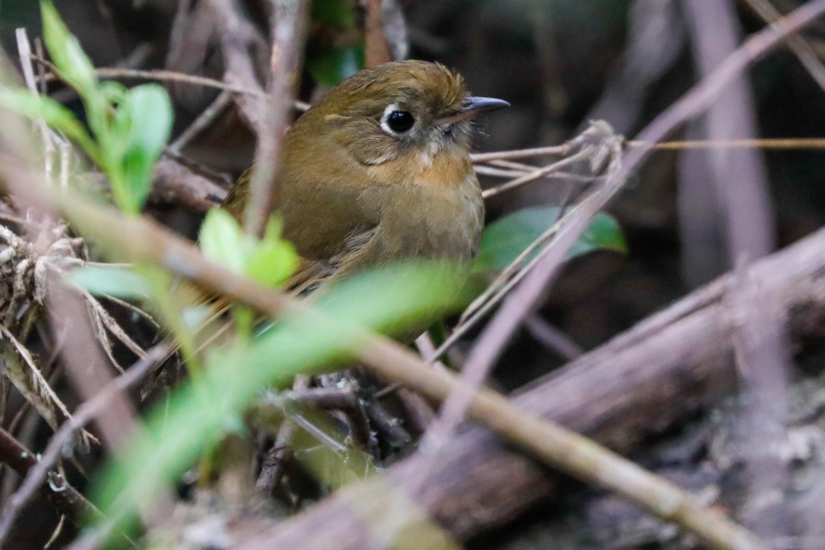
[[[51,469],[54,468],[54,465],[64,454],[64,449],[71,444],[74,435],[79,430],[82,430],[83,426],[87,425],[89,421],[92,421],[100,415],[106,407],[109,407],[111,399],[115,397],[117,393],[123,392],[133,387],[134,384],[139,383],[139,381],[153,369],[158,360],[163,359],[166,352],[166,346],[163,345],[155,346],[149,350],[144,358],[138,360],[124,374],[121,374],[118,378],[106,384],[97,395],[78,407],[78,410],[74,412],[73,416],[68,416],[59,430],[52,435],[49,444],[46,446],[42,456],[40,456],[40,460],[35,459],[29,454],[29,456],[31,456],[31,463],[26,468],[27,471],[20,472],[15,468],[15,470],[25,478],[20,487],[9,497],[2,517],[0,517],[0,548],[2,548],[3,542],[7,539],[14,522],[23,508],[25,508],[35,496],[35,492],[43,486],[47,477],[50,477]],[[0,432],[0,435],[2,435],[2,437],[7,436],[5,432]],[[8,437],[11,436],[8,435]],[[10,464],[10,466],[14,467],[12,464]],[[69,487],[68,482],[66,486]],[[82,499],[82,496],[80,496],[80,499]],[[82,500],[85,501],[85,499]],[[86,510],[89,506],[91,506],[91,504],[87,503],[83,509]],[[79,510],[75,510],[75,512],[77,511]],[[100,512],[97,511],[97,514],[99,515]],[[73,514],[73,518],[78,521],[80,519],[79,514]]]

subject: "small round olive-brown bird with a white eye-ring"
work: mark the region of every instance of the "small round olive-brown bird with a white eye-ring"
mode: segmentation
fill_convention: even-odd
[[[472,120],[508,105],[469,96],[459,75],[423,61],[383,63],[332,88],[283,144],[272,204],[302,256],[291,283],[401,258],[471,261],[484,214]],[[224,200],[238,220],[251,170]]]

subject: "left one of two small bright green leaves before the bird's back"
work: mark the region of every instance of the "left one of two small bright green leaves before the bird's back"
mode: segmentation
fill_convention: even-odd
[[[238,222],[224,209],[206,213],[198,234],[204,256],[235,273],[243,273],[247,254],[252,247],[250,237],[243,233]]]

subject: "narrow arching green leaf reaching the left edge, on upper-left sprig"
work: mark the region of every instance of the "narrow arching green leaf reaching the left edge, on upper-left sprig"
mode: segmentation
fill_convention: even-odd
[[[92,160],[97,162],[100,158],[97,145],[72,111],[52,98],[31,93],[27,88],[0,88],[0,106],[30,119],[44,120],[46,125],[60,130],[77,143]]]

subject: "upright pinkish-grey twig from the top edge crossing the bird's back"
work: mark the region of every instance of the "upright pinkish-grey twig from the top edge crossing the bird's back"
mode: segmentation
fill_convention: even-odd
[[[244,212],[247,233],[262,237],[276,193],[276,174],[281,163],[281,141],[290,125],[290,104],[295,97],[304,54],[308,0],[273,2],[270,22],[270,101],[264,105],[262,131],[258,132],[255,170],[249,182]]]

